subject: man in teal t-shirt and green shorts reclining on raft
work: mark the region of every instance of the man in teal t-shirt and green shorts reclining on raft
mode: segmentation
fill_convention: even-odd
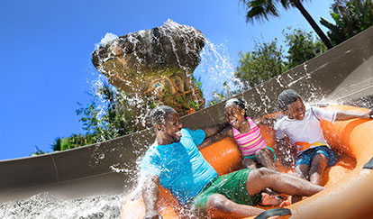
[[[217,177],[198,146],[226,125],[204,130],[182,129],[177,112],[160,105],[150,112],[156,140],[141,161],[145,218],[161,218],[157,211],[159,185],[168,188],[181,205],[191,205],[211,217],[246,217],[263,210],[255,207],[267,187],[279,193],[312,196],[323,190],[310,182],[270,169],[241,169]],[[275,203],[277,204],[277,203]]]

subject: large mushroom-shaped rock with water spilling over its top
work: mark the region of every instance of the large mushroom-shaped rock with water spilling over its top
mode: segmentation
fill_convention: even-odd
[[[159,104],[187,114],[205,105],[193,78],[204,45],[202,32],[168,20],[107,41],[93,52],[92,61],[111,84],[141,99],[136,116]]]

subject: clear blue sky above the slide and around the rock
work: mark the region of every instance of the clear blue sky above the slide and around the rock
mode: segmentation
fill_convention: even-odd
[[[331,4],[306,1],[305,8],[319,23],[321,16],[332,20]],[[99,75],[91,53],[106,32],[122,36],[170,18],[223,45],[234,68],[238,52],[252,50],[255,40],[283,41],[287,26],[312,31],[296,9],[281,14],[270,22],[246,23],[245,9],[237,0],[2,0],[0,160],[28,157],[35,145],[52,151],[56,137],[84,132],[77,102],[90,101],[86,93]]]

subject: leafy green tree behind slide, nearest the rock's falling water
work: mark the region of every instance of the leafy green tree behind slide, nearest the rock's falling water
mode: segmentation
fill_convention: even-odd
[[[286,69],[283,50],[277,47],[277,39],[269,43],[257,42],[254,50],[239,54],[241,59],[234,75],[245,88],[255,87]]]

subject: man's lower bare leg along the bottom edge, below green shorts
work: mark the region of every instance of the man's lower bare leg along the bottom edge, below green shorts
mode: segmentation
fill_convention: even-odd
[[[260,214],[263,209],[250,205],[240,205],[220,194],[208,198],[206,212],[213,218],[242,218]]]

